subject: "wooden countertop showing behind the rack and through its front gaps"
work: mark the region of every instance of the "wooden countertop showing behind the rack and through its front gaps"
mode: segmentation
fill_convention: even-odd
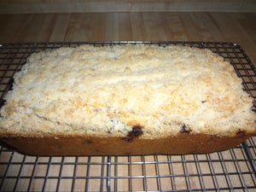
[[[1,30],[0,30],[0,43],[21,43],[21,42],[62,42],[62,41],[214,41],[214,42],[232,42],[236,44],[240,44],[241,47],[245,50],[251,61],[253,61],[254,65],[256,64],[256,14],[255,13],[206,13],[206,12],[192,12],[192,13],[84,13],[84,14],[24,14],[24,15],[0,15],[0,23],[1,23]],[[240,153],[240,152],[239,152]],[[218,159],[214,155],[218,154],[209,154],[205,156],[201,156],[202,159],[208,160],[210,157],[212,160],[214,158]],[[230,158],[229,152],[227,152],[227,158]],[[232,154],[231,154],[232,155]],[[241,158],[242,155],[241,154]],[[11,154],[2,154],[0,156],[0,161],[3,162],[4,160],[9,160]],[[22,161],[24,159],[21,154],[15,154],[12,160]],[[79,161],[88,161],[87,157],[67,157],[65,160],[67,162],[79,162]],[[126,157],[119,157],[119,162],[125,162]],[[138,161],[142,159],[140,157],[132,157],[134,161],[136,158],[139,158]],[[155,160],[155,157],[147,157],[150,161],[150,158]],[[161,159],[163,158],[163,159]],[[160,156],[159,160],[166,160],[165,156]],[[175,157],[173,157],[175,158]],[[176,157],[178,158],[178,157]],[[185,157],[183,157],[185,158]],[[186,160],[195,160],[195,156],[186,156]],[[221,158],[225,158],[221,157]],[[124,160],[123,160],[124,159]],[[35,157],[27,157],[26,160],[30,162],[34,162],[36,160]],[[50,159],[51,162],[60,162],[60,165],[64,159]],[[143,159],[144,160],[144,159]],[[49,162],[49,158],[47,157],[40,157],[37,159],[37,169],[32,171],[32,168],[29,167],[30,164],[27,165],[26,168],[22,170],[23,174],[30,174],[33,173],[33,176],[41,176],[44,175],[45,172],[48,172],[49,176],[59,174],[60,172],[60,165],[56,164],[51,166],[48,170],[47,167],[44,165],[45,162]],[[102,159],[92,159],[90,161],[94,162],[102,162]],[[106,161],[106,160],[105,160]],[[40,164],[41,162],[41,164]],[[43,162],[43,163],[42,163]],[[231,161],[232,162],[232,161]],[[242,161],[243,162],[243,161]],[[24,163],[24,162],[23,162]],[[202,170],[201,172],[207,172],[207,174],[211,174],[211,170],[213,166],[216,166],[218,169],[223,169],[223,164],[220,163],[219,165],[213,164],[213,166],[203,165],[204,161],[197,162],[194,164],[187,164],[186,170],[193,174],[198,172],[198,165],[201,164]],[[16,164],[16,166],[20,164]],[[232,164],[233,165],[233,164]],[[232,166],[230,165],[230,166]],[[9,168],[9,172],[6,175],[17,175],[21,174],[19,171],[16,171],[14,166],[13,168]],[[129,165],[120,163],[119,165],[115,164],[114,167],[119,167],[119,172],[116,173],[120,176],[127,176],[129,175]],[[131,165],[137,167],[133,170],[133,174],[137,174],[136,172],[146,172],[144,168],[139,164]],[[157,174],[155,172],[155,165],[154,164],[146,164],[145,167],[148,167],[147,172],[150,174]],[[150,166],[153,167],[152,171],[150,171]],[[165,168],[166,164],[162,164],[162,172],[166,171]],[[173,169],[177,169],[177,174],[184,175],[184,166],[181,166],[181,171],[178,171],[177,164]],[[233,165],[234,166],[234,165]],[[63,166],[64,167],[64,166]],[[66,168],[65,168],[66,167]],[[69,166],[65,166],[62,169],[62,173],[60,174],[70,174],[73,172],[74,165],[71,163]],[[79,168],[80,167],[80,168]],[[84,171],[83,171],[83,167]],[[97,172],[102,172],[105,168],[101,168],[98,166],[97,163],[93,164],[91,168],[91,176],[96,176]],[[94,167],[94,168],[93,168]],[[246,164],[242,167],[248,167]],[[87,167],[88,168],[88,167]],[[87,172],[86,165],[79,165],[77,166],[76,174],[83,175],[84,172]],[[112,166],[113,168],[113,166]],[[169,167],[170,168],[170,167]],[[235,171],[237,168],[233,167]],[[114,168],[115,169],[115,168]],[[229,166],[226,169],[231,169]],[[248,168],[247,168],[248,169]],[[0,167],[0,170],[4,172],[5,168]],[[24,171],[25,170],[25,171]],[[25,173],[24,173],[25,172]],[[93,173],[95,172],[95,173]],[[107,172],[107,170],[105,170]],[[114,172],[114,170],[113,170]],[[167,172],[167,171],[166,171]],[[88,172],[87,172],[88,173]],[[3,173],[1,173],[3,174]],[[0,174],[0,175],[1,175]],[[167,173],[163,173],[167,174]],[[220,176],[224,176],[219,173]],[[21,174],[22,175],[22,174]],[[214,184],[214,179],[217,179],[218,175],[214,177],[207,177],[205,179],[205,185],[210,186],[209,188],[214,188],[216,185]],[[10,177],[11,179],[12,177]],[[166,180],[164,180],[166,178]],[[143,182],[134,179],[133,189],[144,189],[140,188],[139,186],[143,185]],[[177,189],[183,189],[182,185],[184,184],[187,178],[186,177],[177,177],[176,184]],[[192,185],[198,185],[200,187],[201,178],[196,178],[195,180],[199,179],[198,182],[194,181],[189,183]],[[207,181],[207,179],[209,181]],[[241,182],[241,178],[238,179],[237,182]],[[239,180],[240,179],[240,180]],[[246,179],[250,179],[250,183],[255,183],[255,178],[247,177]],[[42,180],[42,179],[41,179]],[[149,179],[148,179],[149,180]],[[172,180],[172,179],[171,179]],[[221,184],[222,182],[225,183],[227,179],[219,179],[218,183]],[[31,180],[30,180],[31,181]],[[47,183],[44,185],[45,190],[54,190],[52,186],[56,185],[56,182],[53,180],[52,183]],[[70,186],[73,186],[74,189],[84,189],[86,188],[85,180],[78,180],[75,185],[72,185],[72,181],[66,180],[66,183],[59,183],[59,189],[61,191],[69,190]],[[148,181],[148,189],[157,190],[158,188],[155,187],[160,180],[152,178],[152,183]],[[165,184],[166,181],[166,184]],[[169,189],[170,181],[167,181],[167,177],[163,177],[162,182],[162,189]],[[6,182],[3,189],[12,189],[15,181],[10,181],[10,183]],[[34,190],[41,190],[44,181],[33,180],[32,181],[32,189]],[[89,186],[89,190],[97,190],[98,185],[100,182],[96,182]],[[17,186],[16,186],[17,185]],[[16,183],[16,188],[22,189],[22,184]],[[26,189],[26,184],[24,184],[24,189]],[[85,186],[86,185],[86,186]],[[113,185],[113,183],[112,183]],[[125,190],[129,190],[129,182],[128,184],[125,183],[125,178],[122,181],[119,181],[119,185],[122,185]],[[149,187],[151,186],[152,187]],[[154,186],[155,185],[155,186]],[[178,185],[181,185],[180,188]],[[165,187],[164,187],[165,186]],[[211,187],[212,186],[212,187]],[[114,186],[113,186],[114,187]],[[131,187],[131,183],[130,183]],[[173,186],[172,186],[173,187]],[[32,190],[31,189],[31,190]],[[120,188],[119,188],[120,189]],[[0,189],[1,190],[1,189]],[[104,187],[104,190],[106,188]],[[249,189],[248,191],[253,191]]]

